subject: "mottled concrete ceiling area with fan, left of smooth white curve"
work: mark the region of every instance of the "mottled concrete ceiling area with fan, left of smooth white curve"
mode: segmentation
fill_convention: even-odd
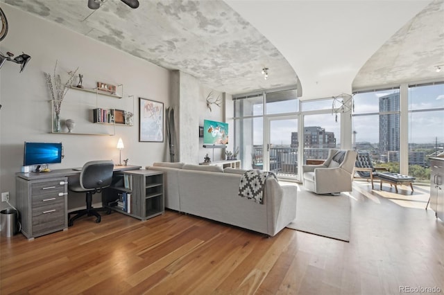
[[[5,2],[153,64],[194,75],[219,91],[244,93],[297,83],[275,46],[223,1],[140,0],[139,8],[132,9],[108,0],[98,10],[87,8],[87,0]],[[273,78],[264,80],[264,67],[271,68]]]

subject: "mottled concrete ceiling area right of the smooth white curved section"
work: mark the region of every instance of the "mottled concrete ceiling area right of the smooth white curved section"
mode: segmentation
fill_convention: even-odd
[[[433,1],[379,48],[361,68],[353,88],[444,78],[444,1]],[[443,66],[444,68],[444,66]]]

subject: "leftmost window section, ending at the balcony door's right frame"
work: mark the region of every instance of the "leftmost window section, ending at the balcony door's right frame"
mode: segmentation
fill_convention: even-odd
[[[233,100],[234,145],[239,146],[242,168],[296,177],[297,147],[291,145],[291,134],[298,132],[298,123],[287,120],[298,114],[296,89],[248,93]]]

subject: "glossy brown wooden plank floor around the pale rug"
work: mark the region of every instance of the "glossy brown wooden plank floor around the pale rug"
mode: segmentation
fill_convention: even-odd
[[[443,294],[444,222],[414,188],[355,181],[349,243],[291,229],[265,238],[173,211],[2,237],[0,294]]]

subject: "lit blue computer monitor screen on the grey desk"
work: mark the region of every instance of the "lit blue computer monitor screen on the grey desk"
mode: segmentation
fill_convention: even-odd
[[[24,166],[62,163],[62,143],[25,142]]]

